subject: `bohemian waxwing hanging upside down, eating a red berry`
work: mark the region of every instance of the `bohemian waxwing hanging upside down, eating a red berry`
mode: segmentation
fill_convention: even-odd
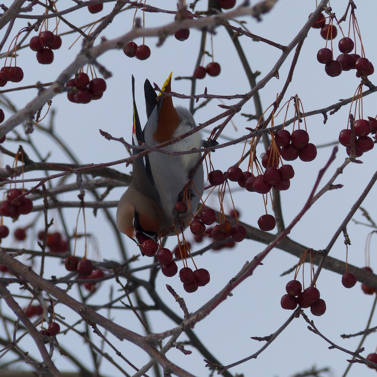
[[[163,92],[171,92],[171,78],[172,73],[162,86]],[[133,145],[155,147],[196,127],[188,109],[174,107],[170,96],[157,96],[148,80],[144,83],[144,95],[147,123],[142,131],[132,76]],[[170,152],[189,151],[200,149],[201,146],[202,135],[196,132],[163,149]],[[139,152],[139,149],[132,150],[133,155]],[[201,153],[172,156],[151,152],[133,160],[132,181],[120,198],[116,211],[118,229],[140,245],[147,238],[156,241],[161,236],[175,235],[181,228],[187,227],[204,191],[202,164],[192,180],[190,178],[200,158]],[[174,206],[184,199],[189,210],[179,215]]]

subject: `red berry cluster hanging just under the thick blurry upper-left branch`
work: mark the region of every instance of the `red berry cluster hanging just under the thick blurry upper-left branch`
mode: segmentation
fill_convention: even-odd
[[[67,98],[74,103],[89,103],[91,100],[102,98],[106,87],[103,78],[90,80],[85,72],[79,72],[66,83],[66,88],[72,88],[68,89]]]

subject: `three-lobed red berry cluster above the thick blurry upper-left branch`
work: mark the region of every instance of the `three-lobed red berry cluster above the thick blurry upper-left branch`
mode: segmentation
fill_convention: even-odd
[[[61,38],[51,31],[41,31],[39,35],[31,38],[29,47],[37,52],[37,60],[40,64],[51,64],[54,61],[54,52],[61,47]]]

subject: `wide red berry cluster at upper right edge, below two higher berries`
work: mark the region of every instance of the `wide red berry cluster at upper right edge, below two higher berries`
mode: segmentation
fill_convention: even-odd
[[[336,60],[333,58],[333,51],[328,48],[321,48],[317,52],[319,63],[325,64],[325,72],[331,77],[339,76],[342,71],[356,69],[356,77],[369,76],[374,73],[373,64],[359,54],[349,54],[354,49],[354,41],[349,37],[342,38],[338,43],[340,54]]]

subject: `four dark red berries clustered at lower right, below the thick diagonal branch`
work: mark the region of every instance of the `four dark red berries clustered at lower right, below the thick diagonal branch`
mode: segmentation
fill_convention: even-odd
[[[316,287],[308,287],[302,291],[302,285],[298,280],[291,280],[285,286],[287,294],[280,300],[283,309],[294,310],[297,305],[300,308],[309,308],[314,316],[322,316],[326,311],[325,300],[320,298]]]

